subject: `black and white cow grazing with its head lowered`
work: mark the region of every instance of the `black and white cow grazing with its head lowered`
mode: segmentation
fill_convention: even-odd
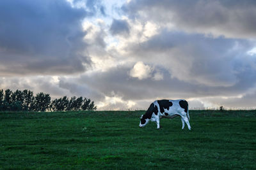
[[[148,124],[149,120],[156,122],[157,129],[160,128],[160,118],[175,118],[180,117],[182,122],[182,129],[184,129],[184,122],[189,125],[188,102],[182,99],[179,100],[159,100],[150,104],[145,115],[141,115],[140,127]]]

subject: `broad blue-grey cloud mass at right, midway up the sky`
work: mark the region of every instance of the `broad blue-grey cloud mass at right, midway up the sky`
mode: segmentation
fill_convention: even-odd
[[[254,43],[243,39],[207,38],[200,34],[160,31],[143,43],[131,43],[129,55],[161,65],[174,78],[211,87],[237,83],[236,64]],[[244,60],[243,59],[243,60]],[[253,63],[253,58],[249,59]],[[248,60],[248,63],[250,63]],[[245,62],[246,60],[244,60]],[[253,66],[250,67],[253,71]]]

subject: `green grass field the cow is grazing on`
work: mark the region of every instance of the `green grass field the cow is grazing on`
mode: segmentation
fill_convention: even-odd
[[[256,111],[0,113],[0,169],[256,169]]]

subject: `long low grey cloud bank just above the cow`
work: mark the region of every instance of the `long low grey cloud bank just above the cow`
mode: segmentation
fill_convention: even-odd
[[[156,68],[159,69],[159,68]],[[163,71],[163,80],[152,80],[152,78],[131,78],[127,73],[131,70],[128,66],[117,66],[108,71],[85,73],[77,80],[67,81],[79,81],[81,84],[86,84],[90,89],[100,92],[103,96],[122,97],[124,101],[138,101],[138,100],[154,100],[159,98],[188,98],[195,96],[204,96],[204,92],[209,89],[200,87],[197,85],[191,85],[190,83],[184,83],[177,80],[177,78],[171,78],[168,71]],[[202,90],[202,94],[196,94],[197,91]],[[214,94],[208,92],[209,94]],[[207,94],[208,95],[208,94]]]

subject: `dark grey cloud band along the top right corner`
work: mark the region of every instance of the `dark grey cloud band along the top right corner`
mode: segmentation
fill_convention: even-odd
[[[140,0],[126,3],[122,9],[131,18],[174,24],[179,30],[256,38],[255,1]]]

